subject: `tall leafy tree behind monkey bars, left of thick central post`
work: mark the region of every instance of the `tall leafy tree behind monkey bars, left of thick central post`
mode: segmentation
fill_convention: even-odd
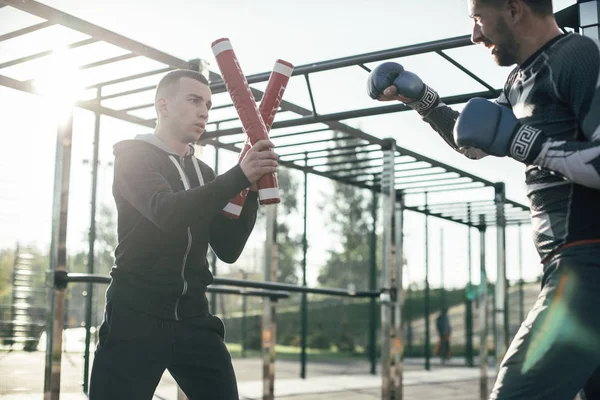
[[[347,140],[340,142],[346,142],[343,146],[350,145]],[[329,154],[330,161],[341,161],[333,151]],[[351,168],[359,159],[360,153],[355,153],[343,160],[348,160],[345,166]],[[336,165],[336,168],[341,167]],[[357,289],[367,289],[372,229],[369,205],[370,195],[364,189],[341,182],[334,183],[333,195],[321,205],[321,209],[327,213],[327,226],[331,233],[341,237],[341,246],[329,251],[329,258],[318,277],[320,285],[339,288],[352,285]]]

